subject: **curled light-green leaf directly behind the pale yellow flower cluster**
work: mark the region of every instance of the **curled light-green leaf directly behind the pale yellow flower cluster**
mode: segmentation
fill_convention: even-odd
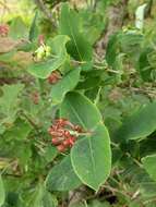
[[[31,64],[28,72],[36,77],[47,78],[52,71],[59,69],[69,58],[65,49],[65,44],[69,40],[69,37],[64,35],[55,37],[50,42],[53,58]]]

